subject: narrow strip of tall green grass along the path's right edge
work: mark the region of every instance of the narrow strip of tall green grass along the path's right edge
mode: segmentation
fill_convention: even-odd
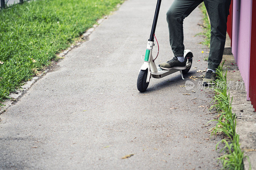
[[[216,86],[214,87],[215,96],[212,102],[215,103],[210,107],[210,110],[216,108],[219,112],[219,119],[216,127],[212,128],[212,134],[221,133],[225,135],[218,144],[224,143],[224,148],[221,152],[225,152],[219,160],[223,164],[223,169],[244,169],[244,152],[242,152],[239,145],[239,135],[236,133],[236,114],[232,112],[232,98],[230,99],[229,92],[227,91],[227,69],[223,68],[224,62],[216,69]],[[250,168],[251,169],[251,168]]]

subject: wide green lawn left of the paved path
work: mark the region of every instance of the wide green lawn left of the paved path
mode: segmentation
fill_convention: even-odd
[[[0,101],[122,0],[36,0],[0,11]]]

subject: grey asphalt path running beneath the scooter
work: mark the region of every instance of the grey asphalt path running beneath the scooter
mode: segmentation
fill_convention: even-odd
[[[173,55],[165,19],[171,3],[160,9],[157,63]],[[0,115],[0,169],[221,168],[220,138],[210,138],[214,124],[205,126],[214,115],[199,107],[209,105],[211,93],[195,87],[183,95],[191,79],[179,73],[151,79],[145,93],[136,88],[155,6],[154,0],[125,1]],[[201,15],[196,8],[184,21],[185,47],[197,67],[184,77],[207,67],[202,37],[194,37],[202,31]],[[134,155],[121,159],[128,154]]]

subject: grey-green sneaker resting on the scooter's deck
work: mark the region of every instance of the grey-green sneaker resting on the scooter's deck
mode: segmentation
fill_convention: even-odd
[[[186,69],[186,58],[183,62],[180,62],[177,57],[173,57],[172,60],[167,61],[166,63],[161,63],[158,66],[164,70],[172,70],[172,69],[179,69],[183,70]]]

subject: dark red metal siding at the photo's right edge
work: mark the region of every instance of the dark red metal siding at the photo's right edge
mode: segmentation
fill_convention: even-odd
[[[250,58],[250,86],[249,97],[256,111],[256,1],[252,2],[252,31],[251,31],[251,58]]]

